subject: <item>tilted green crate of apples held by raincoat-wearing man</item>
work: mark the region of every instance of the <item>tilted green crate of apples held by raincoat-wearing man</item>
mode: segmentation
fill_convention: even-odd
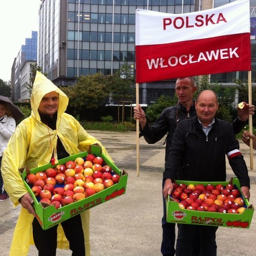
[[[49,163],[26,169],[22,177],[44,229],[51,226],[47,218],[56,224],[69,219],[82,210],[121,196],[127,184],[127,173],[105,157],[99,146],[92,146],[91,152],[61,159],[54,166]]]

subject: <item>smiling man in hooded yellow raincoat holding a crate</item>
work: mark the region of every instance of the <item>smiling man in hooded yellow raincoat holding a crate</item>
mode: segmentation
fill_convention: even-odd
[[[49,79],[40,72],[36,73],[31,115],[17,126],[2,161],[5,189],[15,206],[19,203],[23,206],[14,230],[11,256],[27,255],[33,242],[39,255],[55,255],[56,247],[70,248],[72,255],[90,255],[89,210],[61,225],[43,230],[35,218],[33,199],[18,171],[24,166],[32,169],[51,161],[57,163],[58,159],[87,151],[91,144],[101,145],[74,117],[65,113],[68,101],[68,97]],[[110,158],[103,146],[102,151]]]

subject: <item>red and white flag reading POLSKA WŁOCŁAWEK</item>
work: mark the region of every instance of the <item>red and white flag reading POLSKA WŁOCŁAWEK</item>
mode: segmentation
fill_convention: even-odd
[[[136,10],[136,82],[251,70],[249,0],[199,12]]]

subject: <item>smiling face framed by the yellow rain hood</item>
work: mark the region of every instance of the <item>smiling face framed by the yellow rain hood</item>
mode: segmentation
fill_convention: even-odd
[[[53,116],[59,107],[59,95],[56,92],[47,93],[38,106],[38,112],[44,115]]]

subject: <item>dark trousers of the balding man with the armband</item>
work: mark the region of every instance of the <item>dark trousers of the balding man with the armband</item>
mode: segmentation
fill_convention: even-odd
[[[191,256],[193,255],[193,240],[195,233],[200,232],[200,256],[216,256],[216,231],[218,227],[203,226],[203,225],[189,225],[178,224],[179,232],[176,243],[177,256]]]

